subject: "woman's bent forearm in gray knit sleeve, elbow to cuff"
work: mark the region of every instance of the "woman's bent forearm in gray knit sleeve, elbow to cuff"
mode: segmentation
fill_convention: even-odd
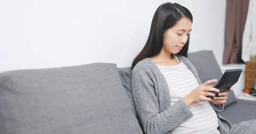
[[[165,134],[193,116],[183,99],[169,109],[155,115],[147,114],[148,110],[137,111],[144,131],[147,134]]]

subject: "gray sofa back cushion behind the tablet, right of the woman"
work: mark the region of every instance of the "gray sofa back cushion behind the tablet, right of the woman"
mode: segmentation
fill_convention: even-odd
[[[218,66],[218,62],[216,61],[212,51],[203,50],[194,53],[188,53],[188,59],[195,66],[198,71],[199,78],[202,83],[210,80],[210,79],[218,79],[220,80],[222,76],[222,72],[220,67]],[[216,85],[218,82],[213,83],[212,85]],[[224,107],[229,106],[232,103],[236,102],[236,96],[233,91],[228,92],[227,102],[224,103]]]

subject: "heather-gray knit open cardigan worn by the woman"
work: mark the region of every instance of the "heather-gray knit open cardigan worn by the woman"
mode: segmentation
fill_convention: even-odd
[[[200,85],[197,70],[189,59],[181,55],[177,57],[186,64]],[[133,68],[131,87],[134,105],[146,134],[170,134],[172,129],[193,116],[183,99],[178,100],[173,106],[170,105],[168,84],[158,67],[149,58],[141,60]],[[223,110],[223,104],[215,106],[211,102],[210,104],[218,116],[218,129],[221,134],[234,132],[231,123],[218,114]]]

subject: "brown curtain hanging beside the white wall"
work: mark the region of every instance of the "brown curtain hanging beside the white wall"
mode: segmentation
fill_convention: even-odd
[[[249,0],[227,0],[223,64],[241,61],[241,41]]]

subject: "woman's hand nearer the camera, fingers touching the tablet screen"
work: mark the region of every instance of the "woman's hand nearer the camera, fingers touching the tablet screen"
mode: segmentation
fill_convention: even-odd
[[[219,89],[213,88],[213,86],[209,86],[209,84],[217,82],[216,79],[212,79],[209,81],[206,81],[205,83],[201,84],[196,89],[192,90],[188,95],[186,95],[183,100],[185,103],[190,106],[192,103],[201,102],[201,101],[212,101],[211,98],[208,98],[206,96],[213,96],[215,97],[215,94],[213,92],[219,92]],[[213,91],[213,92],[208,92]]]

